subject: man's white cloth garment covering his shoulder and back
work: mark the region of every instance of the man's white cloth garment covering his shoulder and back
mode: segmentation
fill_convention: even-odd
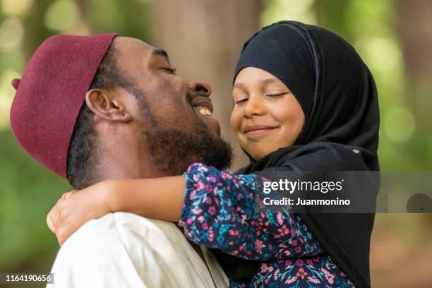
[[[228,287],[217,260],[203,254],[208,267],[172,222],[109,213],[64,242],[47,287]]]

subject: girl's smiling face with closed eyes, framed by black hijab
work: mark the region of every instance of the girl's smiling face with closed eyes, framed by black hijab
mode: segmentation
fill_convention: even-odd
[[[286,85],[260,68],[236,77],[231,125],[241,148],[255,160],[292,145],[304,125],[304,112]]]

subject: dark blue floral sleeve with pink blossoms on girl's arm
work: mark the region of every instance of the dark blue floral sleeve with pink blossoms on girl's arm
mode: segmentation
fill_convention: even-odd
[[[196,244],[249,260],[276,260],[324,253],[299,215],[260,212],[257,175],[234,175],[193,163],[186,176],[179,226]]]

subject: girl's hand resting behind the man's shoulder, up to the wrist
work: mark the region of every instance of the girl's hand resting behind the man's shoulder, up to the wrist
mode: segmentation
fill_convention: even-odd
[[[66,192],[47,215],[49,229],[56,234],[60,246],[85,222],[111,212],[107,203],[108,181],[83,190]]]

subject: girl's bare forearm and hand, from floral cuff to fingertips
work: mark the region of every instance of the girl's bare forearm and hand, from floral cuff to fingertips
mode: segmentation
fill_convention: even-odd
[[[64,193],[49,211],[47,224],[62,245],[83,224],[109,212],[178,222],[185,183],[184,176],[102,181]]]

